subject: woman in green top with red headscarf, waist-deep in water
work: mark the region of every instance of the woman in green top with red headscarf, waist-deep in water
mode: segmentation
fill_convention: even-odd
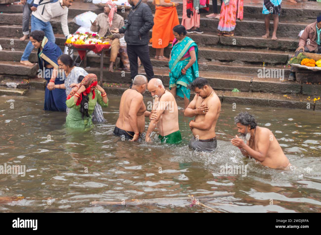
[[[87,127],[92,124],[92,113],[97,102],[100,106],[108,107],[105,90],[97,84],[97,76],[88,74],[78,86],[74,86],[67,97],[66,105],[70,111],[66,117],[68,127]]]

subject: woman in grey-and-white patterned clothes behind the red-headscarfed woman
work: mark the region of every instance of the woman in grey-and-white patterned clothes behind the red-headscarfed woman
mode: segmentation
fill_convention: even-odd
[[[61,85],[55,85],[55,89],[65,89],[66,96],[71,92],[73,86],[78,86],[82,79],[88,75],[85,69],[77,67],[74,65],[73,59],[67,55],[63,54],[58,57],[59,69],[65,71],[65,83]],[[53,72],[53,77],[57,76],[58,70],[55,69]],[[70,109],[67,107],[67,114],[69,114]],[[104,115],[102,113],[101,106],[99,103],[96,104],[94,112],[92,113],[92,120],[97,122],[105,121]]]

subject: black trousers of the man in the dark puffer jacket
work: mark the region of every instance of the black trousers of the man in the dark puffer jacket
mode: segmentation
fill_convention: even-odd
[[[149,57],[149,46],[146,45],[128,45],[127,44],[127,54],[130,65],[130,77],[132,81],[134,77],[138,75],[138,63],[137,56],[141,60],[145,73],[147,75],[148,81],[154,77],[153,66],[151,58]]]

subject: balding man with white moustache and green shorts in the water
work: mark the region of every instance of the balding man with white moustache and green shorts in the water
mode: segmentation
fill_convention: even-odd
[[[151,141],[150,135],[157,125],[160,142],[169,144],[182,142],[178,126],[178,108],[174,96],[165,90],[162,81],[158,78],[152,78],[148,83],[147,89],[155,99],[153,111],[157,111],[159,118],[151,120],[146,133],[146,141]],[[153,111],[152,113],[154,113]]]

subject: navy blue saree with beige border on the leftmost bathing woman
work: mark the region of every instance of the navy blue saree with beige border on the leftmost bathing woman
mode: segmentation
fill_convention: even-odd
[[[47,37],[44,37],[41,43],[42,50],[38,49],[38,65],[39,70],[43,71],[43,78],[46,79],[46,89],[45,89],[45,103],[44,110],[50,111],[66,111],[66,93],[63,89],[54,89],[52,91],[48,90],[47,85],[51,78],[51,74],[54,68],[59,69],[58,57],[62,55],[62,51],[56,44],[49,42]],[[51,64],[54,68],[45,68],[47,64]],[[55,84],[63,84],[64,79],[61,76],[57,76],[55,79]]]

